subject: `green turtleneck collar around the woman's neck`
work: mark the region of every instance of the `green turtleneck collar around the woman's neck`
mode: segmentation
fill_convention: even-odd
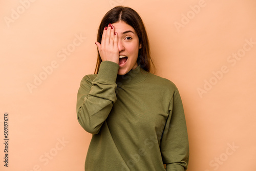
[[[129,71],[125,75],[117,75],[116,83],[117,86],[133,85],[142,82],[148,77],[148,72],[143,70],[140,66],[134,70]]]

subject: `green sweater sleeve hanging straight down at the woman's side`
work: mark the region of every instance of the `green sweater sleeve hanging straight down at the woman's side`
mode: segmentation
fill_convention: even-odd
[[[184,171],[189,158],[188,136],[179,91],[169,103],[169,117],[162,136],[161,152],[167,171]]]

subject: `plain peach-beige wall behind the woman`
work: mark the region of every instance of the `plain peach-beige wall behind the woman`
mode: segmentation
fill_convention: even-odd
[[[1,170],[83,170],[91,135],[76,119],[76,95],[82,77],[94,72],[100,20],[116,5],[141,15],[155,74],[180,90],[188,171],[256,170],[254,0],[0,4]]]

